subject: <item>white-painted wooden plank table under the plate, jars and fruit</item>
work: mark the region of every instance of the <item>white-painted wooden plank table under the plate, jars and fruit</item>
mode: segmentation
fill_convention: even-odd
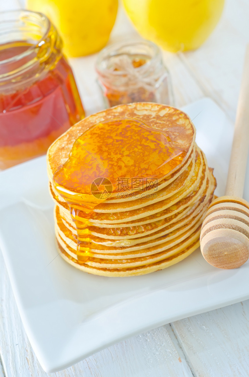
[[[0,3],[0,9],[14,8],[20,8],[17,0]],[[164,53],[176,106],[208,96],[234,122],[244,49],[249,41],[248,18],[248,0],[227,0],[219,25],[200,49],[177,55]],[[120,11],[111,41],[135,35]],[[96,56],[70,60],[87,113],[100,110],[95,59]],[[2,254],[0,270],[0,377],[249,375],[249,300],[153,329],[64,371],[47,374],[24,332]]]

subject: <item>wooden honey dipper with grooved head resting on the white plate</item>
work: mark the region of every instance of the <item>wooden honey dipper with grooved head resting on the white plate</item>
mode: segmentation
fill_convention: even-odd
[[[249,257],[249,203],[242,199],[249,147],[249,46],[238,100],[225,196],[215,199],[200,233],[200,249],[208,263],[237,268]]]

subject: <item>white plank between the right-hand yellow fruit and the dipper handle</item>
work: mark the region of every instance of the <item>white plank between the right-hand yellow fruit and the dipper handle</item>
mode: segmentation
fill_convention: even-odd
[[[203,93],[213,98],[233,121],[249,42],[248,14],[248,1],[227,0],[222,18],[208,40],[196,51],[178,54]]]

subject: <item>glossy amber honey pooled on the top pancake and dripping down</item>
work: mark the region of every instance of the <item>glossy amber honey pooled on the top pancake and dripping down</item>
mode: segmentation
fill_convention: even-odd
[[[170,142],[164,131],[130,118],[96,124],[74,142],[68,160],[53,175],[53,186],[70,208],[78,261],[91,256],[91,219],[98,204],[134,192],[134,181],[139,181],[136,191],[145,189],[150,178],[159,181],[181,164],[186,151]]]

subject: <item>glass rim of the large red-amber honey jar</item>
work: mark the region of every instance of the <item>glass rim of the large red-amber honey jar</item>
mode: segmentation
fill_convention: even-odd
[[[45,43],[44,39],[47,38],[49,34],[49,30],[51,28],[51,23],[50,23],[49,18],[41,12],[27,11],[26,9],[0,12],[0,37],[4,35],[8,35],[9,33],[8,33],[8,30],[6,30],[6,28],[10,27],[11,24],[13,24],[14,22],[17,22],[18,20],[21,20],[24,17],[26,18],[26,20],[33,21],[33,23],[35,21],[43,22],[44,25],[41,25],[41,23],[39,25],[41,27],[41,38],[39,38],[36,41],[36,44],[31,44],[24,52],[20,52],[19,54],[14,55],[11,58],[0,60],[0,66],[1,64],[11,63],[12,61],[21,60],[31,55],[35,51],[35,49],[37,49],[37,47],[40,47],[42,44]],[[1,25],[2,25],[2,28],[1,28]],[[6,41],[5,43],[8,43],[8,42]],[[0,38],[0,45],[1,44],[4,44],[4,43],[1,43],[1,38]]]

